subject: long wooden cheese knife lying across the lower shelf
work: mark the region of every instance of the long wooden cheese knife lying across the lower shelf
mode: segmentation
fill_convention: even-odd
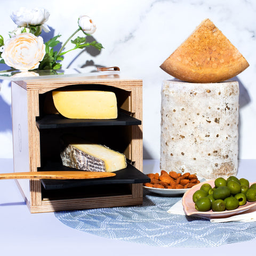
[[[14,172],[0,173],[0,180],[5,179],[96,179],[113,177],[113,172],[88,172],[88,171],[47,171],[47,172]]]

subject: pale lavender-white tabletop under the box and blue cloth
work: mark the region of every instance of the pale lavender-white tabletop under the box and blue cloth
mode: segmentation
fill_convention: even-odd
[[[143,161],[144,173],[157,172],[159,161]],[[13,172],[12,159],[0,159],[0,172]],[[238,178],[256,181],[256,159],[241,160]],[[221,224],[220,224],[221,225]],[[103,238],[70,228],[54,213],[31,214],[14,180],[1,180],[0,255],[254,255],[255,239],[219,247],[155,247]]]

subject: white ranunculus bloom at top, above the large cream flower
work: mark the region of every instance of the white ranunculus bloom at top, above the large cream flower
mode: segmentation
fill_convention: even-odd
[[[11,19],[19,27],[28,27],[29,25],[43,25],[49,18],[50,13],[43,8],[27,9],[21,7],[13,12]]]

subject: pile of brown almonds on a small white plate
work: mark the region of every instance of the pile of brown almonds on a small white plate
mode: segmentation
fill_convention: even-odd
[[[149,173],[147,176],[151,179],[150,182],[143,185],[150,188],[191,188],[200,183],[196,174],[190,174],[186,172],[184,174],[171,171],[167,173],[162,170],[159,173]]]

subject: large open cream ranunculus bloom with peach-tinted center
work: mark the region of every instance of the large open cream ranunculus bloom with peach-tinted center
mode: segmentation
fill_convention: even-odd
[[[31,33],[15,35],[5,42],[2,58],[6,65],[27,71],[38,68],[45,55],[45,45],[41,36]]]

